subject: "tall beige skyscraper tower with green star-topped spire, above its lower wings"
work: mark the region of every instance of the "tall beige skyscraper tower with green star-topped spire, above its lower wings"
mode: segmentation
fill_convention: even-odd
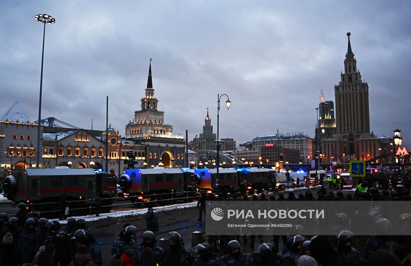
[[[348,132],[369,133],[368,84],[361,80],[357,60],[351,49],[350,32],[347,32],[348,49],[344,60],[344,73],[334,86],[337,134]]]

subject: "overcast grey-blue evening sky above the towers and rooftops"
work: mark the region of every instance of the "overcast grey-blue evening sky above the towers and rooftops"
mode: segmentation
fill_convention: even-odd
[[[410,1],[1,1],[0,115],[18,101],[37,120],[43,25],[42,118],[124,135],[140,109],[152,60],[158,109],[174,134],[202,132],[207,108],[220,138],[304,132],[314,137],[320,88],[335,101],[346,32],[369,85],[371,130],[411,143]],[[226,98],[222,98],[222,107]]]

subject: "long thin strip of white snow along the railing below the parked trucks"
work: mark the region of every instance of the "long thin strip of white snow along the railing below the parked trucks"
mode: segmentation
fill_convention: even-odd
[[[183,204],[174,204],[174,205],[170,205],[170,206],[160,206],[160,207],[155,207],[154,208],[154,212],[158,213],[161,211],[166,211],[166,210],[178,210],[178,209],[183,209],[183,208],[192,208],[197,206],[197,202],[192,202],[192,203],[183,203]],[[100,219],[106,219],[106,218],[117,218],[117,217],[124,217],[127,215],[143,215],[147,212],[148,208],[144,208],[144,209],[137,209],[137,210],[123,210],[123,211],[118,211],[118,212],[113,212],[113,213],[102,213],[100,214],[100,216],[74,216],[74,218],[80,219],[83,218],[85,219],[87,222],[90,221],[97,221]],[[60,224],[67,224],[67,220],[64,221],[60,221]]]

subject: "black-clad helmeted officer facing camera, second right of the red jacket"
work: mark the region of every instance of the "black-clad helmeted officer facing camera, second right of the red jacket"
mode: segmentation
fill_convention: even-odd
[[[185,250],[182,237],[177,232],[170,232],[170,247],[163,252],[162,266],[192,266],[194,259],[192,254]]]

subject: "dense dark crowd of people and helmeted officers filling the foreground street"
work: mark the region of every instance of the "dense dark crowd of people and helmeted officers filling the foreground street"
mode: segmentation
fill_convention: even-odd
[[[374,176],[361,180],[358,190],[344,195],[342,191],[326,191],[322,186],[318,191],[306,190],[296,197],[289,192],[266,195],[264,193],[249,197],[240,192],[217,197],[199,197],[199,220],[205,213],[206,201],[367,201],[377,198],[383,201],[409,201],[409,190],[401,192],[384,190],[375,185]],[[380,179],[381,182],[384,180]],[[379,181],[377,180],[379,183]],[[384,181],[385,182],[385,181]],[[399,181],[397,181],[398,184]],[[390,183],[387,188],[390,188]],[[392,186],[392,185],[391,185]],[[366,188],[363,190],[362,188]],[[316,195],[316,197],[315,197]],[[276,197],[277,196],[277,197]],[[257,204],[257,203],[256,203]],[[102,250],[84,219],[67,218],[62,227],[58,220],[30,217],[24,203],[18,205],[19,211],[9,218],[0,213],[0,266],[34,264],[37,266],[100,266]],[[157,217],[152,207],[145,214],[147,231],[137,235],[137,228],[125,224],[111,246],[111,257],[105,261],[110,266],[411,266],[410,236],[392,236],[392,230],[411,232],[411,215],[403,213],[398,224],[379,217],[373,221],[375,234],[367,238],[363,248],[364,256],[354,247],[356,238],[347,230],[344,220],[349,215],[338,213],[332,224],[331,236],[305,236],[302,225],[294,225],[291,234],[283,236],[258,236],[259,246],[251,254],[245,252],[244,245],[254,248],[256,236],[207,236],[208,241],[192,249],[185,247],[182,236],[175,231],[168,235],[166,248],[160,247],[156,232],[159,230]],[[331,224],[330,224],[331,226]],[[242,244],[240,243],[242,240]],[[137,243],[141,241],[141,244]],[[280,250],[280,243],[283,247]],[[243,245],[243,246],[242,246]],[[217,256],[220,254],[221,256]]]

